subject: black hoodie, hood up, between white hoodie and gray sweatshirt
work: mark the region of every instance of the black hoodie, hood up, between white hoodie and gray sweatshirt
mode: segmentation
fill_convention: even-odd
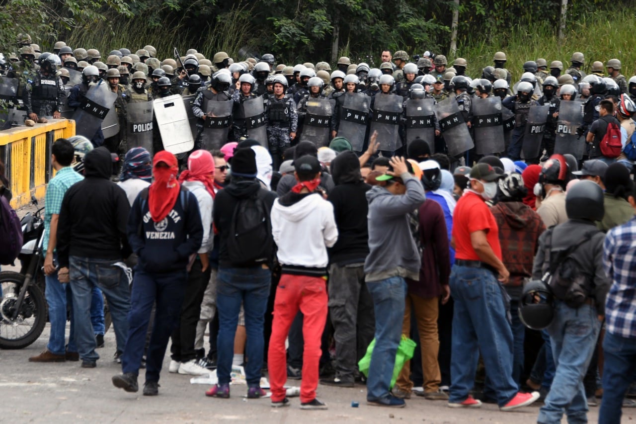
[[[331,173],[336,187],[329,192],[328,201],[333,204],[338,241],[329,249],[329,262],[364,263],[369,254],[366,192],[371,186],[364,183],[360,161],[354,152],[345,151],[336,156],[331,162]]]

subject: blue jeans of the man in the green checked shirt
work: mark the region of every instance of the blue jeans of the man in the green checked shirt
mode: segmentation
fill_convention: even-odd
[[[66,345],[66,308],[73,304],[71,288],[68,284],[60,283],[57,272],[45,276],[45,297],[48,304],[48,320],[51,323],[51,334],[48,336],[46,349],[55,355],[64,355],[66,350],[76,352],[75,346],[75,320],[71,316],[71,334],[69,334],[69,346]]]

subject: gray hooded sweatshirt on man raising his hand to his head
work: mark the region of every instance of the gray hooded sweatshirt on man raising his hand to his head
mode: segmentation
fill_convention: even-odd
[[[366,281],[400,276],[418,279],[420,255],[408,226],[408,213],[419,208],[426,196],[422,183],[411,174],[400,176],[406,193],[394,195],[375,186],[366,193],[369,202],[369,255],[364,262]]]

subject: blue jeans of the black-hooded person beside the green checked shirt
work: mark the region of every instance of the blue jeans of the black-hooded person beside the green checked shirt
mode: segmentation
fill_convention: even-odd
[[[106,295],[117,341],[117,349],[123,348],[128,336],[130,292],[125,273],[113,264],[116,260],[69,258],[69,276],[73,292],[73,316],[75,321],[75,343],[79,357],[86,361],[96,361],[95,334],[90,322],[92,289],[97,286]]]

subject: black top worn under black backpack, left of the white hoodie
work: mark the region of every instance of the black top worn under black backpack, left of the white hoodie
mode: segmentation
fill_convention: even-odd
[[[227,239],[232,223],[234,209],[240,199],[247,199],[252,195],[258,195],[267,207],[267,213],[272,211],[272,204],[276,199],[276,194],[265,190],[256,179],[243,180],[232,178],[232,181],[223,190],[219,190],[214,198],[214,212],[212,222],[214,222],[214,232],[219,235],[219,266],[224,268],[233,267],[228,258]],[[257,240],[254,241],[258,243]],[[272,258],[273,259],[273,258]],[[258,264],[254,264],[255,266]]]

